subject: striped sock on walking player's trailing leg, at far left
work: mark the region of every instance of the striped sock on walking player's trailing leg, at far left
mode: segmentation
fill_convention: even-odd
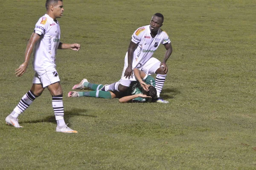
[[[17,118],[29,107],[30,104],[32,104],[36,97],[38,96],[35,96],[34,93],[29,90],[25,95],[23,95],[23,97],[20,99],[20,102],[17,104],[15,109],[13,109],[10,115],[12,115],[14,118]]]

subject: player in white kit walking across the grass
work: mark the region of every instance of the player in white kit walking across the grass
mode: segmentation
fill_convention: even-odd
[[[73,49],[79,51],[80,44],[65,44],[60,42],[61,31],[58,20],[63,15],[62,0],[46,0],[47,13],[35,24],[34,32],[29,39],[25,52],[25,61],[15,70],[17,77],[26,72],[30,55],[34,49],[33,68],[35,76],[29,92],[20,100],[19,104],[6,117],[6,123],[20,128],[18,116],[25,111],[30,104],[42,94],[47,87],[52,95],[52,107],[57,121],[56,132],[77,133],[67,127],[64,121],[63,94],[58,72],[56,71],[55,55],[57,49]]]

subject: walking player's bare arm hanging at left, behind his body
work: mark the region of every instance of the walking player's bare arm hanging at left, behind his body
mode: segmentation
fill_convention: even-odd
[[[25,61],[19,66],[19,68],[15,69],[15,74],[17,77],[22,76],[26,72],[26,68],[29,65],[30,56],[38,40],[40,40],[40,35],[33,32],[26,47]]]

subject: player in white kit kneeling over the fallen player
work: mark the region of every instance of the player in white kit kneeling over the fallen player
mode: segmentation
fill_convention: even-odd
[[[166,61],[172,54],[172,44],[169,36],[160,27],[163,25],[163,15],[156,13],[150,21],[150,25],[138,28],[131,37],[131,42],[128,52],[125,55],[125,66],[122,72],[120,81],[105,85],[103,91],[121,91],[128,89],[131,81],[136,81],[133,75],[133,69],[138,68],[148,75],[157,74],[156,89],[157,102],[169,103],[160,98],[160,92],[163,89],[163,84],[166,80],[168,67]],[[157,50],[158,46],[163,44],[166,48],[166,54],[162,62],[157,58],[152,58],[152,55]]]

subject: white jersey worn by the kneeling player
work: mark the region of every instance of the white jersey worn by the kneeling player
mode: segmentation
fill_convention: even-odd
[[[145,62],[152,57],[160,43],[171,43],[169,36],[162,29],[158,30],[157,35],[154,38],[151,37],[149,27],[150,25],[138,28],[131,37],[132,42],[138,43],[138,46],[134,51],[132,68],[140,68],[143,66]]]

